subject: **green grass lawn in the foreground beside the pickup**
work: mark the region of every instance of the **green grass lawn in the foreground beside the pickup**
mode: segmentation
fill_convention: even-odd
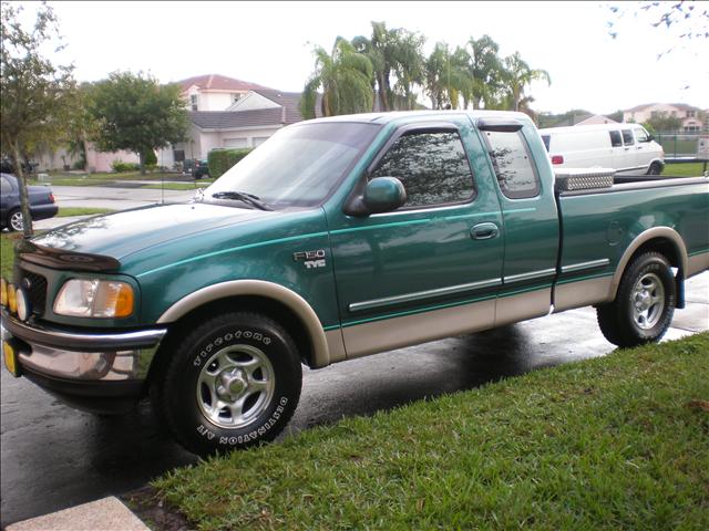
[[[709,529],[709,333],[419,402],[153,485],[196,529]]]

